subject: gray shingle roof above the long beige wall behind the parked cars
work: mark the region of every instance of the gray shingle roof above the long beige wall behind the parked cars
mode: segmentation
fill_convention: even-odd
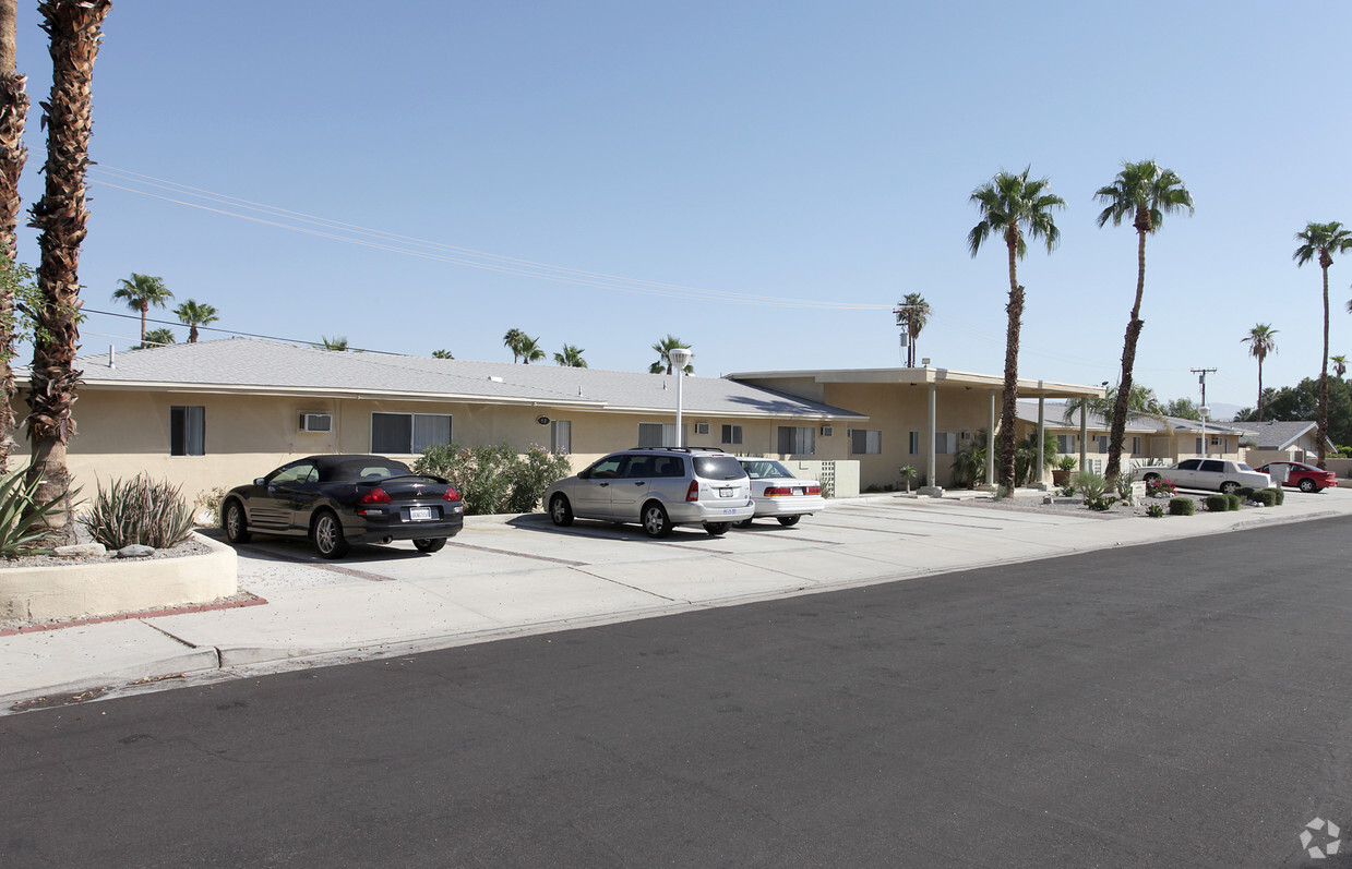
[[[361,393],[500,404],[671,411],[676,378],[558,365],[472,362],[380,353],[338,353],[260,338],[224,338],[76,359],[92,388],[188,387],[204,392]],[[27,372],[16,372],[20,384]],[[867,419],[860,414],[723,378],[687,377],[687,412],[723,416]]]

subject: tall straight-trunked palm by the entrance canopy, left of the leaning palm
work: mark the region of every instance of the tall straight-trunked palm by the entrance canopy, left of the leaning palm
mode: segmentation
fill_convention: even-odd
[[[1028,253],[1025,235],[1042,239],[1046,253],[1056,249],[1061,231],[1056,228],[1052,211],[1065,208],[1065,200],[1049,193],[1051,181],[1000,172],[972,191],[969,201],[976,205],[982,220],[967,234],[967,249],[976,251],[991,235],[1005,239],[1010,261],[1009,327],[1005,338],[1005,401],[1000,408],[1000,466],[998,481],[1007,492],[1014,492],[1014,411],[1018,400],[1018,334],[1023,318],[1023,288],[1018,282],[1018,261]]]

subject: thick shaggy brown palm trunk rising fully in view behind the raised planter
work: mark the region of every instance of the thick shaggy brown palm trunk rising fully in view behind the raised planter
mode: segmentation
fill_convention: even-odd
[[[42,28],[50,38],[51,96],[43,104],[47,130],[46,185],[32,207],[31,226],[41,231],[35,311],[32,380],[24,420],[32,464],[28,484],[37,482],[38,503],[57,501],[42,518],[58,542],[74,539],[70,522],[70,470],[66,442],[74,434],[70,408],[76,401],[76,350],[80,346],[80,242],[89,209],[85,205],[85,169],[89,166],[92,127],[91,82],[103,38],[110,0],[43,0],[38,5]]]

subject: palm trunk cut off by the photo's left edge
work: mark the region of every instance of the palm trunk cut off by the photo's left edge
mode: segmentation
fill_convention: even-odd
[[[15,15],[18,0],[0,0],[0,245],[18,262],[19,178],[28,159],[23,126],[28,116],[27,76],[15,73]],[[0,473],[9,469],[14,443],[14,292],[0,287]]]

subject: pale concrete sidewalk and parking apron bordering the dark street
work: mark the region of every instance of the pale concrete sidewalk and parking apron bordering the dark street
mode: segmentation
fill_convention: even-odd
[[[307,550],[293,543],[247,546],[239,584],[266,605],[0,638],[0,714],[1347,515],[1352,491],[1338,489],[1293,493],[1279,508],[1165,519],[884,497],[725,538],[653,542],[583,522],[564,531],[537,514],[468,518],[431,557],[380,547],[335,565],[299,555]]]

